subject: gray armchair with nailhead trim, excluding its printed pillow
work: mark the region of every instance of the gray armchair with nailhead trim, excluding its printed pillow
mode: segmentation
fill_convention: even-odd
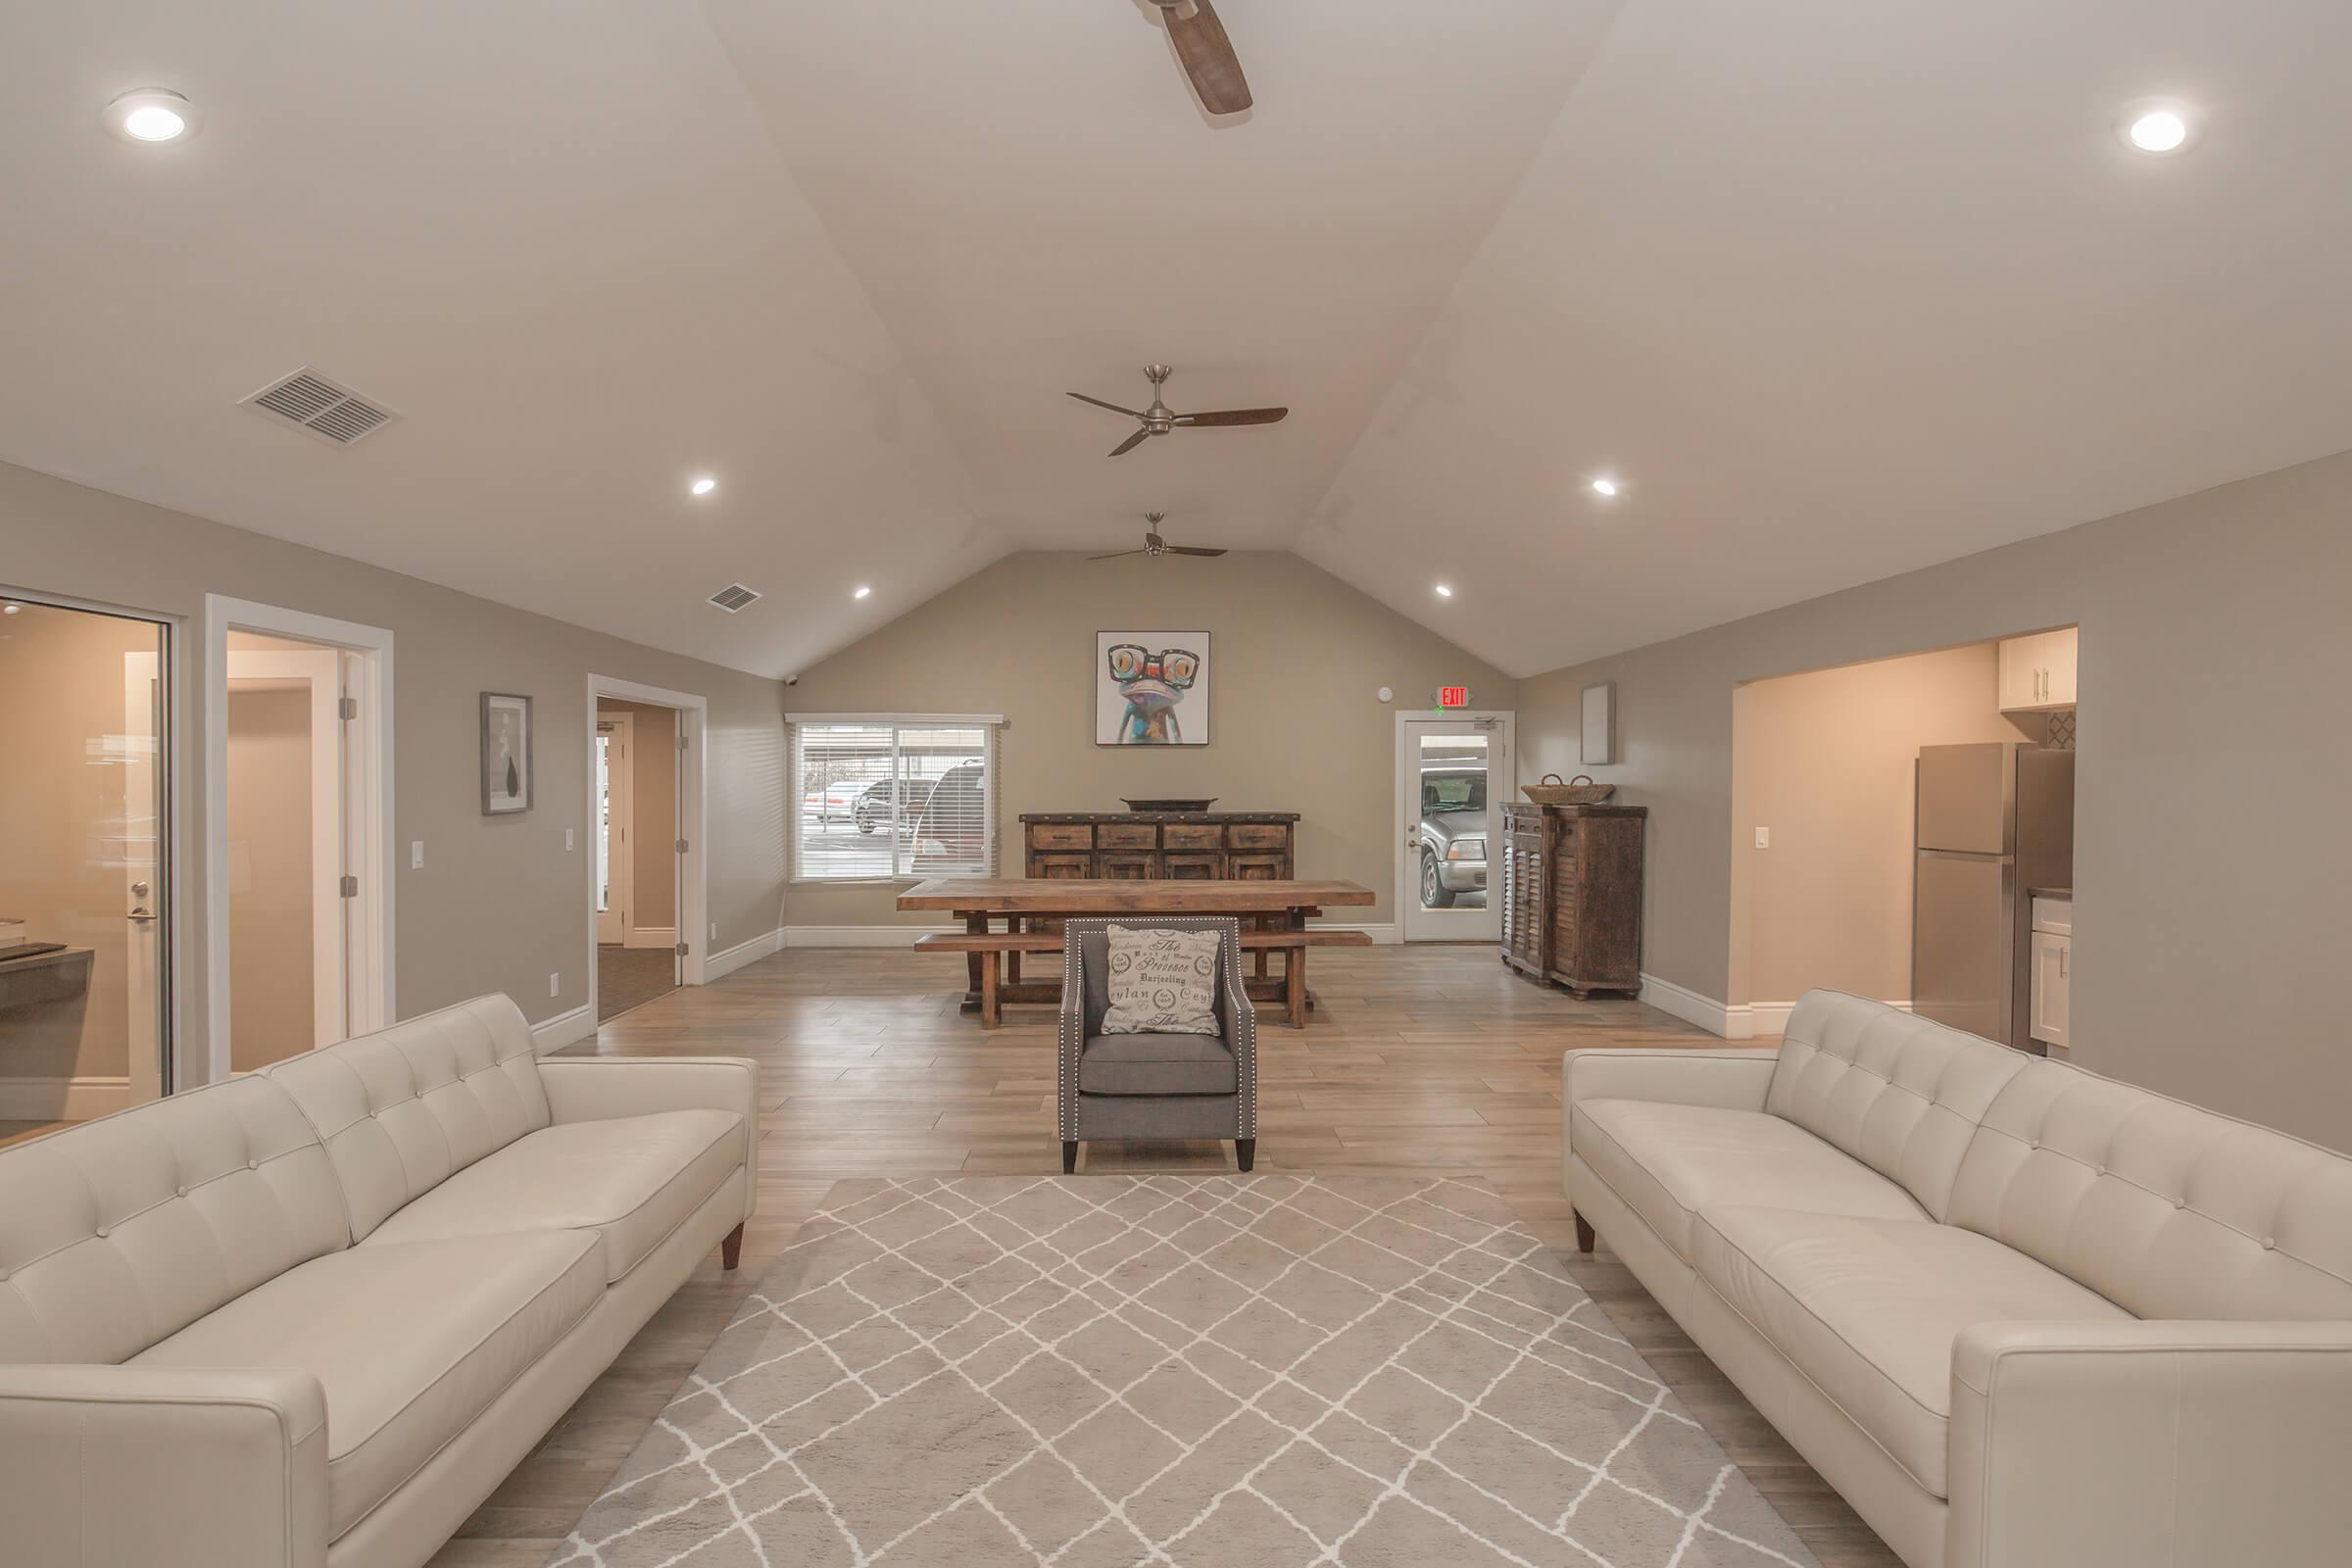
[[[1216,931],[1223,1034],[1103,1034],[1110,1009],[1105,931],[1112,924]],[[1232,1154],[1247,1171],[1258,1157],[1258,1018],[1242,990],[1240,922],[1202,914],[1065,922],[1054,1084],[1063,1171],[1077,1171],[1082,1138],[1232,1138]]]

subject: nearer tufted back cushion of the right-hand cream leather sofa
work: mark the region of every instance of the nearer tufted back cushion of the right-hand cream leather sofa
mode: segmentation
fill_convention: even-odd
[[[2352,1319],[2352,1159],[2030,1060],[1952,1187],[1983,1232],[2147,1319]]]

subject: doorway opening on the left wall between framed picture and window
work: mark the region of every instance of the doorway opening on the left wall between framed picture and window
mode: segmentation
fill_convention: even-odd
[[[677,990],[684,832],[680,710],[600,693],[595,703],[595,1013],[597,1023]]]

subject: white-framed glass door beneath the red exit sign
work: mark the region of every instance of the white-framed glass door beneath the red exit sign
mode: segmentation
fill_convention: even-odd
[[[1404,940],[1501,938],[1501,912],[1486,903],[1486,846],[1498,842],[1508,743],[1498,719],[1406,719],[1397,780]]]

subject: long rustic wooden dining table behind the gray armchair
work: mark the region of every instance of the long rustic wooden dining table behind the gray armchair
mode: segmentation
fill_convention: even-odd
[[[1247,978],[1251,1001],[1279,1001],[1294,1025],[1315,1006],[1305,987],[1310,945],[1369,945],[1362,931],[1308,929],[1324,910],[1367,907],[1376,896],[1362,882],[1197,882],[1129,877],[934,877],[898,893],[901,910],[946,910],[962,933],[931,933],[915,945],[962,952],[967,959],[967,1011],[995,1027],[1004,1001],[1061,1001],[1061,971],[1051,980],[1023,980],[1021,954],[1058,952],[1063,919],[1232,914],[1242,922],[1242,950],[1251,954]],[[1268,973],[1272,952],[1284,954],[1279,978]]]

